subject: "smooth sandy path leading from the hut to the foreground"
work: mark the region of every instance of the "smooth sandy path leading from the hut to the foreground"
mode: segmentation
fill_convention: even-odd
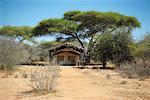
[[[111,93],[102,87],[96,86],[90,77],[78,69],[64,68],[61,72],[59,89],[62,100],[102,100],[111,97]]]

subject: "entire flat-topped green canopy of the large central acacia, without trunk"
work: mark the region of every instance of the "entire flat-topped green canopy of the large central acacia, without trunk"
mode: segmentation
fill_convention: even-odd
[[[61,19],[49,18],[42,20],[33,32],[35,36],[54,33],[75,36],[75,33],[85,35],[122,26],[136,28],[140,27],[140,23],[135,17],[116,12],[69,11]]]

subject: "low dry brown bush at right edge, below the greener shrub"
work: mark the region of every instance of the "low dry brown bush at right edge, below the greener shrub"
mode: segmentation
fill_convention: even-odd
[[[121,64],[118,70],[122,75],[129,78],[148,78],[150,77],[150,62],[138,60],[137,62]]]

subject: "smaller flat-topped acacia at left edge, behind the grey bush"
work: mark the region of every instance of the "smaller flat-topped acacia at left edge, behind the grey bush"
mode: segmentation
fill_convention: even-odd
[[[0,35],[17,39],[20,43],[30,40],[33,28],[29,26],[4,26],[0,28]]]

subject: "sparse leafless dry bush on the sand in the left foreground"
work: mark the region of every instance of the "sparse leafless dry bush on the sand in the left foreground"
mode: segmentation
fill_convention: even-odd
[[[59,67],[41,67],[32,73],[30,83],[28,84],[33,92],[41,95],[55,91],[57,79],[59,76]]]

